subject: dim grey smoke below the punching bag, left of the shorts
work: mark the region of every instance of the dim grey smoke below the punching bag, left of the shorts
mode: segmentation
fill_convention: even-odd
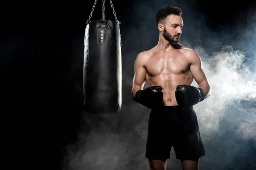
[[[144,110],[143,113],[143,107],[135,105],[132,108],[131,105],[123,105],[122,110],[116,114],[84,113],[87,125],[93,130],[88,134],[80,132],[79,140],[75,144],[67,145],[68,153],[63,170],[128,170],[134,167],[146,169],[148,112]],[[137,116],[132,117],[127,111],[136,113]],[[134,122],[140,123],[134,127]]]

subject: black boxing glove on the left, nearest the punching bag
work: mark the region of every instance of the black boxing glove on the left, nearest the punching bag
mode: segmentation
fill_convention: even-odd
[[[134,101],[147,108],[156,108],[163,103],[163,88],[161,86],[152,86],[139,90],[135,94]]]

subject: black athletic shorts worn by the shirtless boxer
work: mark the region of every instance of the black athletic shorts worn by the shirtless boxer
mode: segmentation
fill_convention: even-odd
[[[198,120],[193,107],[152,109],[148,121],[146,158],[166,160],[174,148],[176,159],[197,161],[204,156]]]

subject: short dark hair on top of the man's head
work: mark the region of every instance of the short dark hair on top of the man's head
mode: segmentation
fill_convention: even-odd
[[[175,6],[166,6],[166,7],[160,8],[157,11],[157,16],[156,16],[157,25],[160,22],[163,22],[163,24],[164,24],[166,17],[169,16],[170,14],[181,16],[182,11],[180,8],[175,7]]]

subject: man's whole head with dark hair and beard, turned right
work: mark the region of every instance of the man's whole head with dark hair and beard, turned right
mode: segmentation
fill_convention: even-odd
[[[163,37],[169,42],[180,42],[183,27],[182,11],[178,7],[166,6],[157,11],[157,27]]]

